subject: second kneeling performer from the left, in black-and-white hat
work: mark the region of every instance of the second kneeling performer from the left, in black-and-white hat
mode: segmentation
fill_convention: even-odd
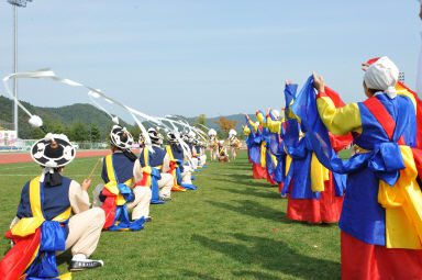
[[[110,148],[113,152],[103,159],[102,180],[93,190],[93,206],[106,212],[104,229],[138,231],[152,220],[149,215],[151,188],[132,186],[143,178],[140,160],[131,152],[133,137],[125,127],[114,125],[110,132]],[[132,222],[127,210],[132,211]]]

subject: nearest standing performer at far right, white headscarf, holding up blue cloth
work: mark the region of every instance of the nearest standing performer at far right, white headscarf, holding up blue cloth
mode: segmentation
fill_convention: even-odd
[[[298,110],[302,124],[312,131],[310,143],[321,163],[348,173],[338,223],[343,279],[422,279],[418,100],[411,91],[396,91],[398,75],[397,66],[381,57],[364,76],[368,99],[343,108],[335,107],[322,77],[314,76],[319,115]],[[312,103],[310,86],[308,102]],[[330,155],[324,148],[326,128],[319,117],[333,134],[352,132],[359,153],[348,161]]]

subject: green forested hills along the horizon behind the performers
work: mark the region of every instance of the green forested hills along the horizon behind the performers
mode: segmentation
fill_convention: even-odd
[[[76,103],[73,105],[59,107],[59,108],[42,108],[34,107],[27,102],[21,101],[27,110],[36,115],[40,115],[44,121],[44,126],[48,132],[65,133],[73,141],[103,141],[108,136],[111,125],[113,124],[110,117],[98,110],[91,104]],[[12,130],[13,128],[13,112],[12,100],[0,96],[0,127]],[[221,132],[221,126],[214,121],[221,121],[223,117],[230,122],[237,122],[236,125],[232,123],[235,130],[241,133],[242,125],[245,124],[245,116],[243,114],[233,114],[226,116],[216,116],[207,119],[202,115],[198,117],[188,117],[190,124],[202,123],[208,127],[216,130],[221,137],[224,133]],[[254,121],[255,114],[249,115]],[[40,138],[44,134],[40,128],[32,128],[27,123],[29,116],[26,113],[19,109],[19,137],[24,139]],[[121,125],[126,126],[131,133],[137,138],[140,134],[138,127],[127,124],[121,121]],[[232,125],[230,127],[232,127]],[[147,126],[147,125],[146,125]],[[99,132],[97,132],[99,131]],[[226,134],[226,132],[225,132]]]

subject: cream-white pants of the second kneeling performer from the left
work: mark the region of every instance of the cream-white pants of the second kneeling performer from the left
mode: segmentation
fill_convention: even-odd
[[[102,206],[102,202],[99,199],[99,194],[103,188],[104,188],[104,184],[98,184],[96,189],[93,189],[92,191],[92,197],[93,197],[92,205],[95,208]],[[135,194],[135,200],[126,204],[127,210],[133,209],[132,220],[138,220],[142,216],[144,217],[149,216],[149,202],[152,197],[151,188],[140,186],[133,190],[133,193]]]

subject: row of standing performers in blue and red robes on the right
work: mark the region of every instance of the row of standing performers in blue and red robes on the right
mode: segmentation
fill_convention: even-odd
[[[288,219],[338,222],[343,279],[422,279],[421,101],[389,58],[363,66],[364,102],[313,74],[298,96],[286,82],[282,115],[246,115],[254,178],[287,194]]]

